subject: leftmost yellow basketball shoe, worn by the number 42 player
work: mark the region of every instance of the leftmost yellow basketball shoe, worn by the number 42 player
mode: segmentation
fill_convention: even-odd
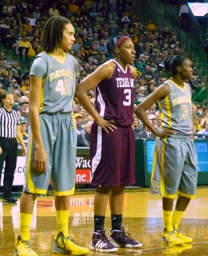
[[[30,241],[22,241],[20,235],[17,237],[15,252],[13,256],[38,256],[31,248]]]

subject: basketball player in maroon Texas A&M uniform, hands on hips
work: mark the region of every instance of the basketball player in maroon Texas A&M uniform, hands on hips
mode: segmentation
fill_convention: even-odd
[[[122,225],[124,189],[134,179],[134,44],[128,36],[116,36],[107,42],[109,60],[85,77],[76,90],[81,105],[95,122],[90,134],[92,185],[95,186],[94,233],[91,250],[115,252],[116,247],[137,248],[141,243],[126,236]],[[95,108],[87,92],[95,88]],[[95,110],[96,109],[96,110]],[[111,234],[106,237],[106,207],[111,209]]]

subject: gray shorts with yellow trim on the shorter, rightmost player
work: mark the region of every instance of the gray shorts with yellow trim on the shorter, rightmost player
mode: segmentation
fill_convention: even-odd
[[[166,198],[195,198],[197,156],[191,136],[157,138],[150,193]]]

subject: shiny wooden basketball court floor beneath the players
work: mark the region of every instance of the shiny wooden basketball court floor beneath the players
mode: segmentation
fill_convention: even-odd
[[[88,247],[93,233],[94,190],[76,190],[70,200],[70,236],[81,246]],[[193,238],[193,243],[183,246],[163,246],[160,243],[163,221],[160,196],[151,195],[147,188],[127,188],[124,202],[124,226],[134,239],[143,246],[138,249],[119,248],[118,252],[99,253],[90,251],[92,256],[138,256],[138,255],[208,255],[208,188],[198,187],[196,199],[188,206],[180,223],[180,231]],[[19,234],[18,204],[2,205],[0,201],[0,255],[13,255],[15,236]],[[109,208],[106,214],[106,233],[109,235],[111,220]],[[52,253],[52,243],[56,236],[56,214],[54,200],[49,193],[40,196],[31,227],[31,243],[39,256],[56,255]]]

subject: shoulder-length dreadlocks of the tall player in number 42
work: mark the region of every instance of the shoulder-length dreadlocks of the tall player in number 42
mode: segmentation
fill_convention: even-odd
[[[68,23],[71,23],[70,20],[62,16],[54,16],[47,20],[41,36],[42,51],[52,52],[61,46],[63,30]]]

